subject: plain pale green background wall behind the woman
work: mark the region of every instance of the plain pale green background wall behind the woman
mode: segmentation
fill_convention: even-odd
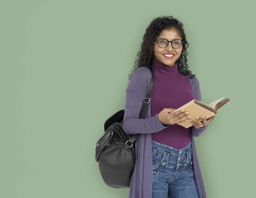
[[[0,197],[128,198],[93,147],[161,15],[184,24],[202,100],[232,100],[195,138],[207,198],[255,196],[252,2],[0,0]]]

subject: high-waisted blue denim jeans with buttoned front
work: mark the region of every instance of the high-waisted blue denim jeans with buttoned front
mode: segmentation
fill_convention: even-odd
[[[183,149],[175,149],[152,141],[152,157],[152,198],[199,198],[191,142]]]

